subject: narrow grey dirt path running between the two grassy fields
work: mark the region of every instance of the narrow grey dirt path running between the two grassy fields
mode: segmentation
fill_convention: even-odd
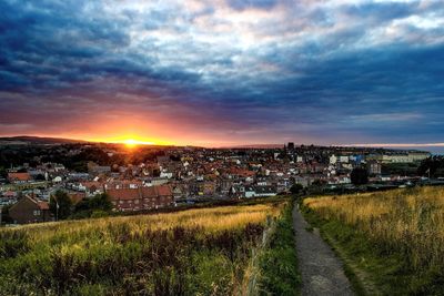
[[[309,224],[297,210],[293,210],[299,268],[302,275],[302,296],[354,295],[341,261],[321,238],[319,231],[306,231]]]

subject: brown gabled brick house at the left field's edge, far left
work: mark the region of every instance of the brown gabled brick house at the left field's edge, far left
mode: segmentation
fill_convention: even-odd
[[[9,210],[9,215],[17,224],[51,221],[49,204],[24,195]]]

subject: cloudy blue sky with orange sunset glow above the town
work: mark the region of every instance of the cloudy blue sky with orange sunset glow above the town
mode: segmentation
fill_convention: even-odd
[[[443,111],[441,0],[0,1],[0,135],[436,149]]]

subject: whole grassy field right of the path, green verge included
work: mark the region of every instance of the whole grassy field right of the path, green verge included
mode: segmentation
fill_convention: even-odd
[[[311,197],[305,216],[385,295],[444,295],[444,188]]]

